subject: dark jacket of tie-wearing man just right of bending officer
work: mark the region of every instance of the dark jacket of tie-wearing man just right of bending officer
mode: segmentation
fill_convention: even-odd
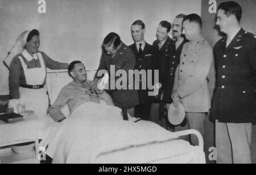
[[[151,85],[154,85],[154,70],[159,70],[159,63],[156,59],[156,48],[145,42],[144,50],[142,56],[139,54],[136,44],[130,45],[130,48],[133,50],[136,58],[135,70],[152,70],[152,76],[146,74],[146,78],[151,78]],[[147,83],[147,80],[145,81]],[[158,83],[158,82],[156,82]],[[147,84],[146,84],[147,85]],[[155,100],[154,96],[148,96],[150,91],[148,87],[142,89],[142,74],[139,75],[139,104],[151,104]],[[152,91],[152,90],[151,90]]]

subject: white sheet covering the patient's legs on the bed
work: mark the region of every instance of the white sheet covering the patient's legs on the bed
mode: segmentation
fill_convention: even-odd
[[[205,163],[199,147],[155,123],[123,121],[114,106],[85,103],[44,133],[53,163]]]

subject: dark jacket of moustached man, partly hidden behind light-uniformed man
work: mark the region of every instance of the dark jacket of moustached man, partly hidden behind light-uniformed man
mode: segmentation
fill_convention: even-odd
[[[175,51],[175,55],[167,60],[167,67],[164,72],[164,84],[163,84],[163,101],[166,103],[172,103],[172,88],[174,87],[174,78],[175,78],[175,71],[177,66],[180,63],[180,54],[183,48],[183,45],[187,42],[184,40],[181,42],[179,47]]]

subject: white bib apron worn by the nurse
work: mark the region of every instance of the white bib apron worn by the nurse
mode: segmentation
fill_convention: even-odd
[[[36,67],[32,69],[27,69],[27,65],[22,59],[19,57],[20,62],[22,63],[22,67],[24,70],[24,75],[26,78],[26,82],[28,85],[41,85],[44,83],[44,79],[46,78],[46,66],[44,66],[44,60],[41,53],[38,53],[38,59],[40,61],[41,67]],[[26,110],[34,110],[36,116],[39,119],[43,119],[47,117],[48,110],[48,96],[47,96],[47,88],[44,86],[40,89],[30,89],[19,87],[20,92],[20,104],[25,104]]]

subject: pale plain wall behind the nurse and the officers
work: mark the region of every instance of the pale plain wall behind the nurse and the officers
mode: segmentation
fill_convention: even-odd
[[[161,20],[201,14],[201,0],[46,0],[46,14],[39,14],[38,6],[38,0],[0,0],[0,95],[9,93],[9,72],[2,60],[27,29],[39,29],[40,50],[51,58],[81,60],[86,69],[97,69],[100,46],[109,32],[117,32],[130,45],[130,25],[142,19],[151,44]]]

